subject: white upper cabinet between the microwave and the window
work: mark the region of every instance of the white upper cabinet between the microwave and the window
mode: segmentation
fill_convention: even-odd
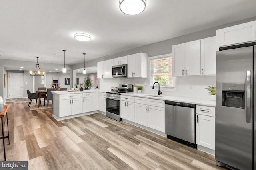
[[[148,54],[137,53],[127,56],[127,77],[148,77]]]

